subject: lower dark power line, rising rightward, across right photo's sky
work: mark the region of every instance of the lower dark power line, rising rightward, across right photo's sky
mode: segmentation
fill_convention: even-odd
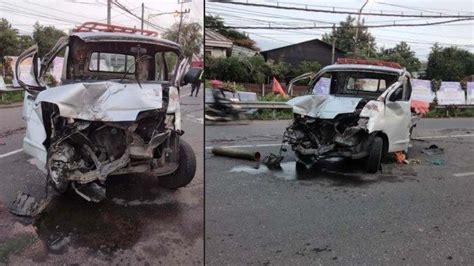
[[[463,19],[453,19],[437,22],[427,22],[427,23],[417,23],[417,24],[380,24],[380,25],[351,25],[351,26],[336,26],[336,28],[345,28],[345,27],[360,27],[360,28],[387,28],[387,27],[421,27],[421,26],[432,26],[440,25],[447,23],[454,23],[459,21],[474,20],[474,18],[463,18]],[[270,24],[270,22],[268,23]],[[212,27],[209,27],[212,28]],[[224,26],[225,29],[268,29],[268,30],[307,30],[307,29],[332,29],[332,26],[300,26],[300,27],[274,27],[274,26]]]

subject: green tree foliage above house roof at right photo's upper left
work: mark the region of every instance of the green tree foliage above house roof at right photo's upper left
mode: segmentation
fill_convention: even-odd
[[[255,41],[250,39],[245,33],[236,31],[234,29],[226,29],[224,21],[219,16],[205,16],[204,25],[213,31],[216,31],[225,37],[232,40],[236,45],[259,51],[260,49],[255,45]]]

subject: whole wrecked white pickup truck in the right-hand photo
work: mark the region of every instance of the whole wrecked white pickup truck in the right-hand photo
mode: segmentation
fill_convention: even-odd
[[[297,170],[320,160],[365,158],[367,171],[375,173],[387,153],[408,149],[415,126],[410,74],[394,63],[346,61],[290,82],[291,93],[296,82],[309,79],[308,95],[287,102],[294,119],[284,142],[295,152]],[[329,94],[314,95],[321,79],[329,82]]]

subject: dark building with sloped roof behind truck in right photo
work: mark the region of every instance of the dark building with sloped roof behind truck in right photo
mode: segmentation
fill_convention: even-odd
[[[267,52],[263,52],[265,60],[274,60],[275,62],[287,62],[294,66],[301,61],[318,61],[321,66],[331,65],[332,49],[329,46],[319,42],[307,42],[298,45],[283,47]],[[335,60],[340,57],[345,57],[343,53],[337,52]]]

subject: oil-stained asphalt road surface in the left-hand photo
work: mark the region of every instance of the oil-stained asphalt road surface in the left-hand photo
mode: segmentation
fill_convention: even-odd
[[[197,172],[187,187],[170,191],[156,178],[111,177],[105,201],[57,196],[36,219],[6,210],[17,191],[41,198],[45,176],[18,150],[25,132],[21,107],[0,109],[0,264],[202,264],[202,94],[188,94],[183,89],[183,137],[194,149]]]

